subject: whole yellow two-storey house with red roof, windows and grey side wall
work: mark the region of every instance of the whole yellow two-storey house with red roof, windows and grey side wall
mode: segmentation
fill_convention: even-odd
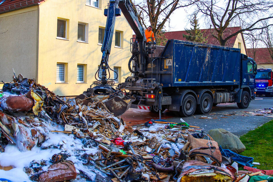
[[[81,94],[100,64],[108,2],[0,0],[0,80],[10,82],[14,69],[60,96]],[[131,37],[125,17],[117,17],[109,56],[116,82],[130,75]]]

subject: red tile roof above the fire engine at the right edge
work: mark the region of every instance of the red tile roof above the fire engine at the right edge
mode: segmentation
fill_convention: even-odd
[[[255,57],[254,57],[255,51]],[[267,48],[247,49],[248,57],[252,57],[257,64],[273,64],[273,60]]]

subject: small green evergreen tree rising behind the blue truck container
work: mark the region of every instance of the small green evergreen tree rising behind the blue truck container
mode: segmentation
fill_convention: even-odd
[[[194,15],[193,20],[191,20],[191,26],[193,28],[190,30],[186,29],[187,34],[183,34],[183,37],[192,42],[207,43],[206,38],[208,36],[204,37],[204,33],[199,30],[199,24],[196,15]]]

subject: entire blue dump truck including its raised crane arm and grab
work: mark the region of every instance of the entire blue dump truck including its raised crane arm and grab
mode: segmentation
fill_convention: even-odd
[[[209,113],[218,103],[237,102],[239,108],[248,107],[255,98],[257,65],[253,59],[241,54],[240,49],[181,40],[168,40],[162,53],[156,56],[156,38],[147,42],[133,7],[128,0],[110,0],[104,9],[107,21],[102,59],[95,74],[98,83],[93,88],[91,85],[86,94],[108,94],[110,100],[106,107],[111,112],[125,108],[116,115],[130,106],[159,111],[159,118],[164,109],[189,117],[195,111]],[[121,12],[135,38],[131,39],[132,56],[128,62],[132,75],[115,90],[110,83],[117,78],[110,78],[110,70],[118,74],[108,62],[115,20]],[[125,95],[121,93],[123,90],[127,90]],[[128,97],[131,101],[125,102]]]

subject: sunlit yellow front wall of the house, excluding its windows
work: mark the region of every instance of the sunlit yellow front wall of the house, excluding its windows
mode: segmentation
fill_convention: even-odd
[[[86,1],[45,1],[40,8],[39,17],[39,57],[38,83],[46,86],[60,96],[78,95],[93,81],[100,64],[102,53],[98,45],[98,28],[105,27],[104,7],[109,1],[102,1],[103,9],[85,5]],[[69,20],[69,40],[57,39],[57,18]],[[77,42],[78,22],[88,24],[88,43]],[[132,30],[124,16],[117,17],[115,30],[123,31],[123,49],[115,47],[115,34],[109,65],[121,67],[121,82],[129,76],[128,61]],[[67,63],[67,83],[56,83],[57,62]],[[77,64],[87,64],[87,83],[77,82]],[[113,76],[112,76],[113,77]]]

